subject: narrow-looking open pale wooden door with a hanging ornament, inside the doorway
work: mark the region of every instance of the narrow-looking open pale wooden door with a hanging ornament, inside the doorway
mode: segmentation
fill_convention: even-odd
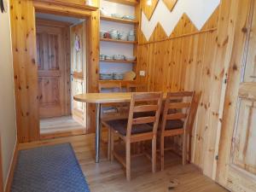
[[[86,23],[71,27],[72,95],[86,93]],[[86,104],[72,102],[73,119],[86,126]]]

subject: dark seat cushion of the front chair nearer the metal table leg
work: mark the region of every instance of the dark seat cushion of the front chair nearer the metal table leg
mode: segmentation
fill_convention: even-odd
[[[113,130],[118,131],[121,135],[126,135],[128,119],[114,119],[106,122]],[[132,125],[131,135],[150,132],[153,130],[153,126],[148,124]]]

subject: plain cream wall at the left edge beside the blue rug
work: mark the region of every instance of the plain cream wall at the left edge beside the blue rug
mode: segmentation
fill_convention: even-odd
[[[0,133],[3,183],[6,184],[17,141],[9,11],[4,14],[0,12],[0,28]]]

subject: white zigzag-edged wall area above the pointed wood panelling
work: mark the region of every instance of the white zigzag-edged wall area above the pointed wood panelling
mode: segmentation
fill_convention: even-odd
[[[141,30],[145,38],[149,40],[154,32],[155,26],[159,22],[169,37],[183,14],[188,15],[195,27],[201,30],[219,3],[220,0],[178,0],[171,12],[166,7],[166,4],[160,0],[154,9],[151,20],[148,20],[142,12]]]

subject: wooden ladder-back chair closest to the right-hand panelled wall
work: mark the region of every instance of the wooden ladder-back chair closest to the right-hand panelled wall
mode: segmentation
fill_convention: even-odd
[[[182,91],[167,93],[166,103],[160,128],[161,170],[165,165],[165,137],[183,135],[183,165],[187,159],[187,131],[190,108],[195,92]]]

